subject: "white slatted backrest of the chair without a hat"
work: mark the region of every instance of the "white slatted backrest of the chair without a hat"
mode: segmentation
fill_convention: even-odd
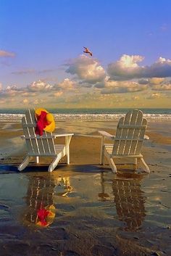
[[[147,121],[141,110],[128,112],[121,117],[114,138],[113,155],[137,155],[141,153]]]

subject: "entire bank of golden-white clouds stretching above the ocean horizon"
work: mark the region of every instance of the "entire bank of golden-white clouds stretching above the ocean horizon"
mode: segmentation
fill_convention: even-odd
[[[147,101],[158,99],[162,95],[163,100],[164,94],[170,95],[168,91],[171,91],[171,80],[167,78],[167,75],[171,77],[171,60],[160,57],[157,62],[149,66],[140,65],[142,61],[143,57],[140,55],[124,54],[117,62],[108,66],[107,74],[97,59],[80,55],[67,63],[66,73],[71,74],[70,78],[64,78],[58,83],[55,78],[53,82],[56,84],[53,85],[51,85],[52,80],[47,80],[47,78],[36,80],[22,88],[7,86],[4,89],[0,83],[0,99],[1,102],[3,100],[9,102],[11,99],[28,105],[50,105],[54,102],[62,105],[71,103],[81,105],[85,104],[86,100],[86,104],[90,106],[92,102],[98,104],[96,103],[98,100],[105,104],[108,99],[114,99],[114,101],[118,99],[119,104],[124,98],[125,101],[129,99],[130,102],[135,101],[136,104],[142,101],[141,97],[139,98],[142,93],[138,95],[138,92],[149,89],[144,99]],[[46,73],[51,70],[42,71]],[[38,73],[38,71],[30,69],[16,72],[19,75],[27,73]],[[88,95],[87,98],[86,95]],[[46,99],[43,100],[43,98]]]

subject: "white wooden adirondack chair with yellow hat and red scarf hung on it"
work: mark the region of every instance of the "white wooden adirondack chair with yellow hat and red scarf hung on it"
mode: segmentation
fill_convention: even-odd
[[[25,139],[28,155],[20,164],[18,170],[25,169],[33,157],[36,157],[37,163],[39,162],[39,157],[54,157],[53,162],[49,165],[49,172],[56,168],[59,160],[65,155],[67,155],[67,164],[70,164],[70,140],[73,133],[52,134],[44,131],[43,136],[37,135],[35,133],[35,110],[27,110],[25,112],[25,116],[22,117],[22,128],[24,132],[22,139]],[[54,144],[54,139],[62,136],[65,137],[65,144]]]

